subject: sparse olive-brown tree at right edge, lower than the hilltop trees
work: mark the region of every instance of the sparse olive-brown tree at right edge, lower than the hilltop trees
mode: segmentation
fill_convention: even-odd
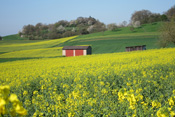
[[[175,45],[175,22],[172,19],[170,22],[164,22],[160,28],[159,45],[166,47],[169,43]]]

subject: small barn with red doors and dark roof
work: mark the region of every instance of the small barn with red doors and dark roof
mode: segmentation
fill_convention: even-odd
[[[92,53],[91,46],[64,46],[62,49],[63,56],[81,56],[90,55]]]

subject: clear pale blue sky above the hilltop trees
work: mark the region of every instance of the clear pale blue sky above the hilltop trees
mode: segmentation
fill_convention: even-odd
[[[110,24],[129,23],[135,11],[164,13],[175,0],[0,0],[0,36],[17,34],[24,25],[53,24],[94,17]]]

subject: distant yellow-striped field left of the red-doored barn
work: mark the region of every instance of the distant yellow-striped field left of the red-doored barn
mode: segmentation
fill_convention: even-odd
[[[20,43],[14,40],[3,40],[0,46],[0,62],[60,57],[62,47],[58,45],[75,37],[45,41],[21,40]]]

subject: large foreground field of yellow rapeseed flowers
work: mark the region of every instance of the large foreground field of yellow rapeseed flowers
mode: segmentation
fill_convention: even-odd
[[[175,48],[4,62],[0,115],[9,86],[19,115],[174,116],[174,79]]]

